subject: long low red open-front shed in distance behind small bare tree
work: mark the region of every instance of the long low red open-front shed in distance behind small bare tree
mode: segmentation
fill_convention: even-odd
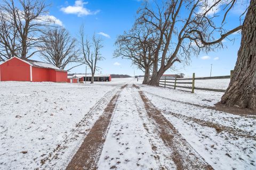
[[[79,81],[91,81],[92,74],[74,74],[73,77],[79,78]],[[111,81],[110,74],[94,74],[94,81]]]

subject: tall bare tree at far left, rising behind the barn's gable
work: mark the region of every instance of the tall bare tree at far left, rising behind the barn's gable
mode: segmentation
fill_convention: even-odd
[[[1,60],[18,56],[23,59],[33,56],[39,36],[54,22],[41,0],[3,0],[0,4],[0,52]]]

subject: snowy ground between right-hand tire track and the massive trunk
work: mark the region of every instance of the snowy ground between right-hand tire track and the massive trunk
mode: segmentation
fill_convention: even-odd
[[[219,86],[216,83],[214,88],[220,88],[224,83],[225,81]],[[256,116],[233,115],[180,103],[182,101],[213,106],[220,101],[222,92],[196,90],[195,94],[191,94],[160,87],[140,86],[140,88],[214,169],[255,169]],[[176,116],[171,113],[175,113]],[[198,120],[225,126],[234,132],[228,133],[225,130],[217,132],[212,127],[201,125]]]

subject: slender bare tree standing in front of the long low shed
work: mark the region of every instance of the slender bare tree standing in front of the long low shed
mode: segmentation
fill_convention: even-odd
[[[92,42],[87,37],[85,38],[84,25],[82,25],[80,29],[80,43],[83,63],[90,67],[92,73],[91,83],[93,83],[95,71],[98,69],[98,62],[105,59],[100,53],[100,50],[103,48],[103,42],[95,34],[92,37]]]

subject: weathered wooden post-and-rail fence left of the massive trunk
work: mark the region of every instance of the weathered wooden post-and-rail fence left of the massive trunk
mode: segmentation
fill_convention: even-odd
[[[218,92],[225,92],[226,90],[223,89],[210,89],[210,88],[199,88],[195,87],[195,80],[211,80],[211,79],[230,79],[233,75],[233,70],[230,71],[230,75],[225,76],[215,76],[215,77],[203,77],[203,78],[196,78],[195,73],[193,73],[192,78],[182,78],[182,79],[160,79],[160,85],[163,85],[166,88],[184,88],[184,89],[191,89],[191,92],[194,93],[195,90],[206,90],[206,91],[218,91]],[[192,80],[189,82],[185,82],[186,80]],[[178,85],[177,85],[178,84]],[[191,84],[191,87],[189,86],[180,86],[179,84]],[[185,90],[188,91],[188,90]]]

